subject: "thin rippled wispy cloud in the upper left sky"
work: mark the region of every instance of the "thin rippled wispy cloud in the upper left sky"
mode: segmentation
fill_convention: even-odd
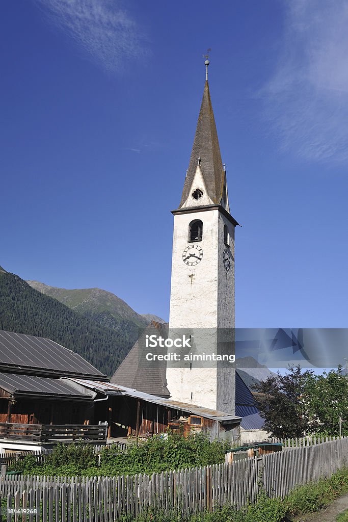
[[[141,29],[119,0],[34,0],[89,58],[110,72],[145,54]]]

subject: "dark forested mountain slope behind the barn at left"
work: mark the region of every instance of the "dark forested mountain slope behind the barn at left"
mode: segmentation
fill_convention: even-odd
[[[5,270],[0,270],[0,329],[52,339],[109,376],[138,334],[135,324],[127,321],[118,330],[99,326]]]

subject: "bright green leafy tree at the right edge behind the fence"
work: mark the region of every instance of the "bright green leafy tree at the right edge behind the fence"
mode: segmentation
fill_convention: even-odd
[[[306,376],[304,400],[309,416],[316,420],[322,435],[339,435],[340,417],[342,434],[348,435],[348,380],[338,370],[313,373]]]

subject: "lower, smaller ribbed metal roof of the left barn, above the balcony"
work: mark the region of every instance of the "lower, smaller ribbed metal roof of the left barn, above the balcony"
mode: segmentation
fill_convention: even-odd
[[[51,377],[35,377],[31,375],[17,375],[14,373],[0,373],[0,388],[10,394],[71,396],[74,398],[92,399],[93,393],[83,393],[83,389],[73,383]]]

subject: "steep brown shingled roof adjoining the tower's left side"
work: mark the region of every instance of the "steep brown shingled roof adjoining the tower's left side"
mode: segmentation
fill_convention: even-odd
[[[144,338],[146,335],[155,334],[167,337],[168,325],[152,321],[143,331],[140,339],[135,343],[122,364],[118,366],[111,378],[111,382],[127,388],[135,388],[139,392],[150,395],[169,397],[166,387],[166,362],[154,364],[147,361]],[[147,350],[148,351],[148,350]]]

